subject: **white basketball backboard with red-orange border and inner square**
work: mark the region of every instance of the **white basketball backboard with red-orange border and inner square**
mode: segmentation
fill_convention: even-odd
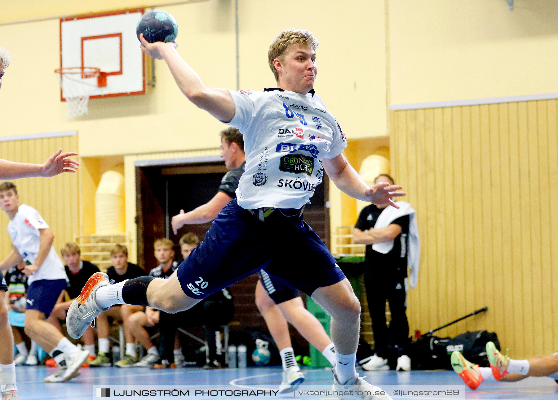
[[[95,67],[107,85],[90,99],[145,94],[145,57],[136,37],[143,8],[60,19],[60,67]],[[61,100],[65,100],[61,90]]]

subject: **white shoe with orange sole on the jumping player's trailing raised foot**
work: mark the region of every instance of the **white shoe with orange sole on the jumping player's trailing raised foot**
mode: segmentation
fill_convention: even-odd
[[[107,285],[110,285],[108,275],[103,272],[95,272],[81,290],[80,295],[70,305],[68,314],[66,314],[66,329],[68,329],[68,334],[72,338],[81,338],[97,315],[101,311],[109,309],[109,307],[102,309],[95,302],[97,289]]]

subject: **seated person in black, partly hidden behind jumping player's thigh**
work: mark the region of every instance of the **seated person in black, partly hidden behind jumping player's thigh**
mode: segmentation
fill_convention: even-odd
[[[186,259],[196,245],[200,242],[198,236],[188,232],[180,238],[180,252],[182,258]],[[226,325],[234,318],[233,296],[228,288],[222,289],[206,297],[193,308],[178,314],[169,314],[160,311],[161,340],[159,342],[160,362],[153,368],[176,368],[176,350],[171,352],[172,338],[175,337],[179,327],[203,325],[205,329],[205,341],[208,345],[208,355],[204,369],[221,368],[218,359],[218,348],[216,331],[220,325]]]

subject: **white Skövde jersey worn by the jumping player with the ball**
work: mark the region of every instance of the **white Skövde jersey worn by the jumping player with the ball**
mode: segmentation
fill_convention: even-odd
[[[246,167],[238,205],[300,208],[324,175],[321,160],[347,147],[337,120],[311,90],[230,91],[235,113],[229,125],[244,135]]]

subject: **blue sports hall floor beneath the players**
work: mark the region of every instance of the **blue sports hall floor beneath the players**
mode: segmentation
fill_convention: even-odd
[[[100,393],[98,388],[115,387],[128,390],[141,386],[156,385],[157,389],[165,388],[218,388],[228,390],[270,388],[276,389],[281,383],[281,368],[246,368],[246,369],[218,369],[204,370],[201,368],[181,368],[181,369],[146,369],[146,368],[81,368],[81,375],[66,383],[45,383],[43,378],[54,373],[54,368],[47,367],[16,367],[17,384],[21,400],[47,400],[47,399],[98,399]],[[306,382],[304,385],[321,385],[321,387],[331,388],[331,372],[324,369],[305,369]],[[359,371],[360,375],[366,375],[367,381],[386,389],[393,389],[398,386],[413,385],[412,390],[420,389],[425,385],[436,385],[441,388],[447,385],[462,385],[463,381],[453,371],[415,371],[415,372],[367,372]],[[463,386],[464,387],[464,386]],[[302,387],[304,388],[304,386]],[[100,390],[100,389],[99,389]],[[121,393],[115,391],[116,393]],[[113,392],[111,397],[116,397]],[[223,393],[223,392],[220,392]],[[191,394],[193,394],[191,392]],[[413,396],[393,396],[396,398],[413,398]],[[270,396],[190,396],[187,398],[258,398]],[[279,399],[313,399],[313,400],[335,400],[335,397],[324,396],[304,396],[300,393],[278,394]],[[141,397],[118,397],[125,398],[150,398],[150,399],[169,399],[186,398],[184,396],[141,396]],[[523,381],[514,383],[484,382],[476,391],[466,388],[465,396],[456,397],[436,397],[419,396],[414,398],[421,399],[446,399],[446,398],[467,398],[467,399],[558,399],[558,386],[551,378],[527,378]]]

